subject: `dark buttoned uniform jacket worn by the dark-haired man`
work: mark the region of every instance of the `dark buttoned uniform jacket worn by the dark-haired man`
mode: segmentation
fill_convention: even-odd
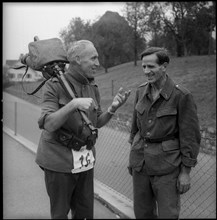
[[[192,94],[167,76],[151,101],[150,84],[137,88],[131,126],[129,168],[163,175],[181,163],[194,167],[200,146],[197,107]]]

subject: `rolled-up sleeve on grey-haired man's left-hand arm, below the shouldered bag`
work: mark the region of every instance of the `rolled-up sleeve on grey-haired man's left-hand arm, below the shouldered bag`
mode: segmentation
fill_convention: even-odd
[[[58,95],[53,84],[47,82],[44,86],[42,111],[40,118],[38,119],[38,125],[40,129],[44,129],[44,122],[47,115],[57,111],[59,109]]]

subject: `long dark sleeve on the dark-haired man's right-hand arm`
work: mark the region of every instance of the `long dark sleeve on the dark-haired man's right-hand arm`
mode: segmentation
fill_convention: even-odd
[[[197,164],[201,135],[197,106],[191,93],[187,93],[181,97],[178,111],[182,164],[186,167],[194,167]]]

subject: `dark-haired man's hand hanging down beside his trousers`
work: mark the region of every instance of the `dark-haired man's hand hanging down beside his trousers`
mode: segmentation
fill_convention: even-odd
[[[191,188],[190,168],[182,168],[177,180],[177,189],[180,194],[186,193]]]

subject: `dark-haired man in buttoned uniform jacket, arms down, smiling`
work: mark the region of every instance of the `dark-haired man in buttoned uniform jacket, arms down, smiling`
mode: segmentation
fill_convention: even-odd
[[[136,91],[129,143],[136,218],[179,217],[180,194],[190,189],[200,129],[192,94],[166,73],[165,49],[141,54],[147,82]]]

